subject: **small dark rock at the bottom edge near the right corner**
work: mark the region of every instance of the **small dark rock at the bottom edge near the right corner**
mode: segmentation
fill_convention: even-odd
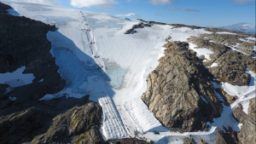
[[[237,139],[237,132],[233,131],[232,128],[229,128],[229,130],[217,130],[216,131],[216,144],[238,144]]]

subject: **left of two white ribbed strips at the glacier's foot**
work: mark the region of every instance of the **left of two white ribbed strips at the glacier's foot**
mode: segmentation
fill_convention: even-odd
[[[115,140],[128,136],[124,124],[122,123],[118,112],[113,106],[113,101],[108,96],[106,96],[100,98],[99,103],[103,110],[102,133],[106,140]]]

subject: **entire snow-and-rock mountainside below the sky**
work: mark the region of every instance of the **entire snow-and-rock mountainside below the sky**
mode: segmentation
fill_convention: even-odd
[[[256,142],[255,34],[0,2],[0,143]]]

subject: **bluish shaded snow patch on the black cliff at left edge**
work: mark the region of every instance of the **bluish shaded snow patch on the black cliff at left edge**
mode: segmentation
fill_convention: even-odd
[[[32,73],[23,74],[26,66],[18,68],[15,72],[0,73],[0,84],[9,84],[10,87],[20,87],[26,84],[32,84],[35,78]]]

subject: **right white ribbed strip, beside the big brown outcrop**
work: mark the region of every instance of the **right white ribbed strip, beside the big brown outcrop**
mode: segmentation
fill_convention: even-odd
[[[127,115],[131,118],[131,122],[137,127],[139,132],[153,131],[161,127],[160,122],[154,118],[152,112],[148,111],[148,107],[141,98],[125,101],[124,107]]]

